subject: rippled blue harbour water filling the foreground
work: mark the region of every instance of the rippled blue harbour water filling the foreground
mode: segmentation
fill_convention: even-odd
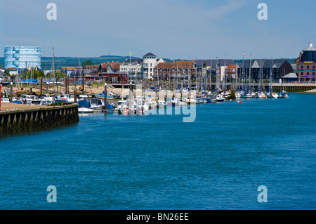
[[[0,138],[0,209],[316,209],[316,94],[289,96]]]

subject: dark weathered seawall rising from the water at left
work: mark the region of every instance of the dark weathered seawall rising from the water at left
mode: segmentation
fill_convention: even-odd
[[[39,131],[79,122],[78,105],[55,105],[44,108],[0,111],[0,135]]]

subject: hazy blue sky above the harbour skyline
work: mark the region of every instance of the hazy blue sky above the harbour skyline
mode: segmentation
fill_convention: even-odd
[[[47,4],[57,6],[48,20]],[[258,20],[259,3],[268,20]],[[41,46],[43,56],[148,52],[159,58],[296,58],[316,46],[316,1],[0,0],[4,46]]]

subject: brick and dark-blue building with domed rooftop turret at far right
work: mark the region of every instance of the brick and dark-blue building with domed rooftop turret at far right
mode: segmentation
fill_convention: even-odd
[[[298,81],[315,82],[316,48],[312,46],[312,43],[303,50],[303,53],[300,52],[300,56],[296,59],[296,70]]]

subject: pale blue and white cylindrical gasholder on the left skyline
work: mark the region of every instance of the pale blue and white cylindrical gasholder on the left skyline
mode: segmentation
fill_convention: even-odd
[[[41,69],[41,46],[5,46],[4,68],[24,70],[27,67]]]

